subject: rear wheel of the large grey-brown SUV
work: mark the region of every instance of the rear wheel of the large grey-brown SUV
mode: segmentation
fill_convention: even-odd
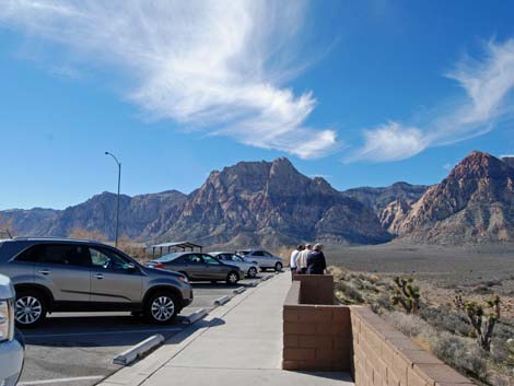
[[[46,299],[39,291],[20,291],[16,296],[14,319],[20,328],[35,327],[46,318]]]

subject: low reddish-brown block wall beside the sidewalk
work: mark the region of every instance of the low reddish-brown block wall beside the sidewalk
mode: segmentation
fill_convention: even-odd
[[[355,386],[474,385],[370,308],[335,305],[329,276],[293,281],[283,306],[282,369],[351,371]]]

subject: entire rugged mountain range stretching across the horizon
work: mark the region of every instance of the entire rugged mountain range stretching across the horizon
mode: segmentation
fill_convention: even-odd
[[[212,172],[189,195],[177,190],[120,196],[119,233],[142,243],[278,247],[408,243],[464,245],[514,241],[514,157],[475,151],[433,186],[396,183],[338,191],[301,174],[284,157],[240,162]],[[103,192],[65,210],[0,211],[17,235],[114,238],[116,195]]]

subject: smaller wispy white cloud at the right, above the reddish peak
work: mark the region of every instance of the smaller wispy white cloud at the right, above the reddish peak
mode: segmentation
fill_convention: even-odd
[[[489,42],[483,57],[462,60],[447,74],[465,92],[452,106],[416,127],[388,122],[363,131],[364,144],[346,161],[398,161],[423,150],[481,136],[514,113],[514,39]],[[449,113],[448,113],[449,110]]]

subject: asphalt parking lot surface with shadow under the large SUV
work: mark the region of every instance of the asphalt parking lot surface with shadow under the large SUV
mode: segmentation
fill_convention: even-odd
[[[260,280],[246,279],[237,286]],[[170,338],[188,325],[187,315],[200,308],[213,308],[213,302],[232,295],[237,286],[192,283],[195,300],[183,309],[175,324],[155,326],[129,313],[55,313],[40,327],[24,330],[25,367],[20,386],[95,385],[119,369],[113,358],[141,340],[162,334]]]

